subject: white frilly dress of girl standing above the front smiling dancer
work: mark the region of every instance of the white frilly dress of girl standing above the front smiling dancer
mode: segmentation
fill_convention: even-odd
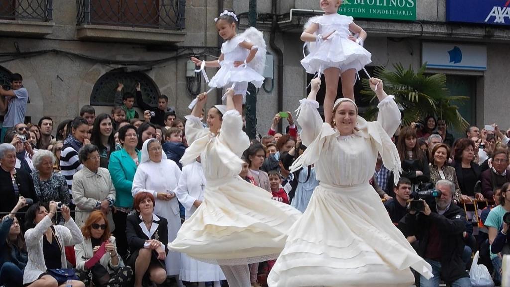
[[[301,65],[307,73],[315,74],[330,67],[338,68],[341,72],[348,69],[359,71],[370,64],[372,55],[362,46],[348,39],[351,35],[349,25],[352,23],[352,17],[329,14],[311,18],[309,23],[319,25],[316,34],[327,36],[331,32],[336,32],[319,45],[311,43],[315,47],[301,60]]]

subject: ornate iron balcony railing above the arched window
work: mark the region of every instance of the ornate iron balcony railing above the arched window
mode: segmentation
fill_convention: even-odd
[[[76,1],[78,25],[112,25],[166,30],[184,29],[186,0]]]

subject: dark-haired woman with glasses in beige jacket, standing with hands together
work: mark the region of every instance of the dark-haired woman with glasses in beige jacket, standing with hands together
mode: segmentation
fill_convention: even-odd
[[[94,145],[86,145],[80,149],[79,158],[83,169],[74,175],[72,182],[72,198],[76,204],[76,224],[83,226],[94,209],[103,212],[111,229],[115,229],[110,209],[115,202],[115,188],[107,169],[99,168],[101,158]]]

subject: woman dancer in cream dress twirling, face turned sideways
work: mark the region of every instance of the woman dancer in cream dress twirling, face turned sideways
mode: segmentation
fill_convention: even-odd
[[[206,189],[202,203],[168,247],[219,264],[230,286],[250,287],[248,264],[277,258],[301,213],[238,176],[240,156],[250,143],[234,107],[234,91],[227,90],[226,106],[209,109],[209,129],[199,117],[207,93],[197,98],[192,114],[186,116],[191,146],[181,162],[188,165],[200,157]]]

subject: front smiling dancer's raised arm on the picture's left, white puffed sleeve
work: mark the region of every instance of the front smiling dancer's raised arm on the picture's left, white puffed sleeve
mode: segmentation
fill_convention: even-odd
[[[313,79],[312,90],[308,94],[308,98],[299,101],[301,105],[298,108],[297,122],[302,128],[300,136],[305,146],[309,146],[317,137],[323,124],[322,118],[317,110],[317,108],[319,108],[319,103],[316,101],[320,83],[320,79]]]

